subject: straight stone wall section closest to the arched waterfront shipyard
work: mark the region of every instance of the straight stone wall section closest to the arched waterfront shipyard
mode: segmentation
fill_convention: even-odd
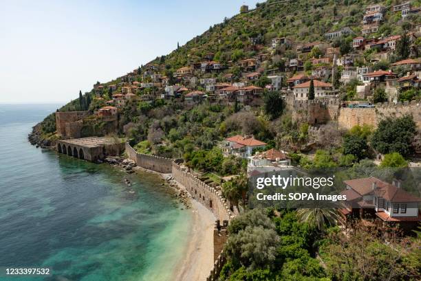
[[[129,159],[136,161],[136,165],[139,167],[155,172],[162,172],[164,174],[170,174],[173,171],[173,161],[175,159],[137,153],[136,150],[127,143],[126,153],[129,156]]]

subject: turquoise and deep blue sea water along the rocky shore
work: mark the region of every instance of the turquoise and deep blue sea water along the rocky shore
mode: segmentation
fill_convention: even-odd
[[[157,175],[31,146],[31,127],[55,109],[0,105],[0,267],[53,273],[0,280],[172,280],[191,212]]]

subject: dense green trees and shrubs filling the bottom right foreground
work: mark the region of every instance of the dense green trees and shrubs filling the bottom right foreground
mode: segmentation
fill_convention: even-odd
[[[220,280],[415,281],[420,272],[420,238],[403,238],[398,229],[354,223],[343,231],[332,210],[274,214],[248,210],[230,223]]]

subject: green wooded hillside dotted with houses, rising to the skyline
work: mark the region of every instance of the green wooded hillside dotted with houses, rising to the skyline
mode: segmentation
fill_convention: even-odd
[[[398,51],[389,50],[388,58],[385,60],[371,57],[376,54],[376,49],[365,51],[352,49],[353,38],[360,36],[363,29],[362,19],[365,9],[374,3],[382,4],[385,12],[378,30],[365,34],[365,41],[370,41],[371,38],[376,41],[380,40],[377,38],[403,34],[404,30],[414,31],[420,24],[419,14],[410,14],[403,19],[400,12],[392,11],[393,5],[400,3],[398,1],[269,0],[258,4],[254,10],[250,7],[248,12],[242,12],[210,27],[202,35],[177,47],[171,54],[157,56],[155,60],[115,80],[97,82],[94,89],[84,95],[79,93],[78,99],[69,102],[59,111],[89,110],[94,113],[106,105],[106,100],[114,104],[114,101],[119,99],[116,98],[118,95],[125,96],[129,93],[136,100],[130,100],[119,108],[118,126],[114,133],[129,137],[133,146],[137,145],[140,152],[180,157],[186,153],[184,149],[186,146],[189,152],[194,148],[209,150],[215,147],[215,141],[235,133],[252,134],[270,146],[279,147],[282,144],[286,148],[297,150],[307,141],[306,133],[303,136],[300,131],[299,126],[302,124],[293,124],[290,113],[278,118],[284,106],[279,106],[270,112],[268,103],[276,104],[276,95],[272,95],[272,98],[270,95],[265,94],[264,97],[261,95],[261,91],[264,90],[266,93],[266,88],[270,85],[268,75],[276,73],[282,76],[281,86],[286,89],[287,79],[297,72],[314,76],[312,69],[321,67],[327,71],[320,74],[317,79],[336,82],[338,87],[336,93],[340,93],[345,100],[356,98],[356,86],[360,85],[360,82],[351,80],[345,85],[338,81],[341,71],[347,65],[338,67],[336,76],[333,77],[332,57],[323,61],[317,60],[328,56],[327,49],[333,49],[339,58],[343,58],[345,54],[356,56],[352,67],[367,66],[374,70],[386,70],[390,63],[399,60],[401,55],[397,54]],[[411,7],[419,7],[420,3],[419,0],[411,1]],[[336,32],[345,27],[351,30],[346,36],[332,40],[325,38],[326,32]],[[273,45],[274,38],[286,38],[289,43]],[[314,42],[321,42],[325,47],[313,47],[310,49],[311,52],[298,52],[296,49],[299,44]],[[420,48],[419,38],[412,45],[415,46],[416,58]],[[259,63],[251,69],[239,65],[241,60],[250,58],[255,60],[256,57]],[[301,65],[292,67],[292,60],[299,60]],[[201,63],[204,61],[206,64],[220,65],[220,68],[208,71],[207,68],[203,70],[202,66],[201,70]],[[187,69],[188,75],[177,72],[183,67]],[[398,70],[398,77],[407,73],[406,69]],[[213,79],[214,82],[210,83],[212,85],[200,82],[206,79]],[[227,82],[228,85],[239,83],[238,85],[257,87],[257,90],[245,91],[258,91],[259,95],[255,95],[251,102],[242,101],[238,104],[236,98],[235,102],[232,98],[226,103],[213,102],[217,99],[215,93],[219,91],[218,85],[226,86]],[[195,100],[191,94],[189,98],[193,104],[186,106],[186,92],[179,94],[178,98],[168,95],[168,91],[173,91],[174,87],[180,89],[180,93],[182,89],[186,92],[191,91],[199,98],[206,93],[209,102],[202,103],[201,100]],[[415,93],[415,97],[419,94]],[[408,96],[409,100],[414,97],[413,93]],[[367,97],[363,97],[363,100],[367,100]],[[251,110],[237,112],[246,104],[251,106]],[[107,126],[100,118],[90,117],[83,122],[82,135],[87,136],[89,133],[98,135],[101,133],[101,128],[105,127]],[[56,139],[54,115],[46,117],[37,128],[41,139],[53,141]],[[285,133],[287,131],[290,133]],[[109,130],[102,132],[102,134],[107,133],[112,132]],[[296,135],[301,137],[297,138]]]

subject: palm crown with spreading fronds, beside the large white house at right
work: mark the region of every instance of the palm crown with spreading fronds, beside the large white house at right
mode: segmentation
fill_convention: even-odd
[[[326,225],[332,226],[343,221],[343,218],[338,214],[336,209],[300,209],[296,214],[299,221],[317,227],[321,232],[325,230]]]

